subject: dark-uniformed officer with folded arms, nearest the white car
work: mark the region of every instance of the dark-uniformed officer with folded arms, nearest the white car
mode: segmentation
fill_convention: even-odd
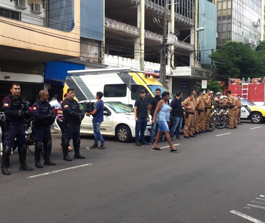
[[[80,109],[75,97],[75,89],[67,89],[67,98],[63,101],[61,107],[63,109],[64,118],[64,133],[63,133],[63,159],[72,161],[68,155],[68,146],[71,139],[73,139],[73,147],[75,151],[74,158],[85,159],[79,153],[80,150],[80,124],[85,117],[84,111]]]

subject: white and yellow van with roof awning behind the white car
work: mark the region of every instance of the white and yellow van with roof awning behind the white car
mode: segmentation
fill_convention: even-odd
[[[145,89],[150,100],[159,88],[161,95],[167,89],[157,80],[159,74],[131,71],[131,68],[71,70],[63,88],[63,94],[68,88],[74,88],[78,101],[95,99],[98,91],[103,92],[102,100],[119,101],[134,106],[140,97],[140,90]],[[173,97],[170,95],[170,100]]]

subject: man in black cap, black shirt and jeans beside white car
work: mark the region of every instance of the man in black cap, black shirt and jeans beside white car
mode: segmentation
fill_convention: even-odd
[[[149,145],[145,139],[145,131],[147,126],[147,121],[150,122],[149,112],[148,112],[148,101],[145,98],[146,91],[144,89],[140,90],[140,98],[135,101],[134,104],[134,118],[135,118],[135,145]],[[139,133],[141,136],[141,142],[139,138]]]

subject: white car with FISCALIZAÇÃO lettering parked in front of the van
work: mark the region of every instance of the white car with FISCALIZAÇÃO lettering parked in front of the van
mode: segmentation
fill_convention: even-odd
[[[91,100],[92,103],[96,101]],[[85,111],[85,101],[80,101],[79,104],[81,109]],[[80,125],[80,133],[93,135],[92,120],[92,115],[90,117],[85,115]],[[104,121],[100,125],[102,136],[116,136],[120,142],[130,142],[135,137],[135,123],[131,106],[118,101],[104,100]],[[151,125],[151,121],[147,123],[145,136],[150,136]],[[60,131],[58,125],[54,129]]]

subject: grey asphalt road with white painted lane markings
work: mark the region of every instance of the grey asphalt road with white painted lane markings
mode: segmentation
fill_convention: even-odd
[[[243,123],[175,140],[176,153],[115,138],[88,150],[93,137],[82,136],[86,159],[72,162],[62,159],[53,135],[56,166],[34,168],[28,153],[34,170],[19,171],[15,152],[11,175],[0,174],[0,222],[265,222],[265,124]]]

